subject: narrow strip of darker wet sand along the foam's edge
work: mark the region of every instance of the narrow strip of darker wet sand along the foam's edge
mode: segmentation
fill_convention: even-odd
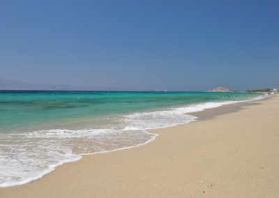
[[[273,98],[278,98],[278,96],[274,96]],[[270,100],[274,100],[273,98],[270,98]],[[201,122],[204,122],[204,121],[209,121],[210,122],[211,120],[214,120],[214,119],[216,120],[215,117],[220,117],[220,116],[224,116],[224,115],[230,115],[230,114],[235,114],[235,113],[238,113],[238,112],[243,112],[247,109],[247,107],[250,107],[250,106],[255,107],[255,106],[258,106],[255,103],[261,103],[262,104],[265,101],[269,101],[269,100],[265,99],[265,100],[257,100],[257,101],[252,101],[252,102],[239,102],[239,103],[236,103],[236,104],[223,105],[221,107],[217,107],[217,108],[213,108],[213,109],[205,109],[202,112],[190,113],[191,115],[198,116],[198,122],[191,122],[191,123],[186,123],[186,124],[182,124],[182,125],[176,125],[176,126],[172,126],[172,127],[169,127],[169,128],[147,130],[148,132],[151,132],[151,133],[156,132],[160,135],[156,138],[156,141],[153,141],[149,144],[146,144],[145,146],[140,146],[139,148],[119,149],[121,151],[113,152],[113,153],[112,153],[112,151],[108,151],[107,153],[102,153],[102,154],[95,153],[93,155],[83,155],[82,160],[79,160],[77,162],[66,163],[65,165],[63,165],[61,167],[57,167],[56,170],[54,170],[54,172],[52,172],[51,174],[47,174],[43,178],[40,178],[37,181],[33,181],[32,183],[27,183],[25,185],[17,185],[17,186],[8,187],[8,188],[0,188],[0,195],[1,195],[1,193],[10,192],[10,191],[13,191],[13,190],[17,190],[17,192],[18,192],[18,190],[20,190],[21,188],[23,188],[23,189],[24,188],[29,188],[29,186],[37,185],[37,183],[45,183],[45,181],[48,181],[49,178],[53,177],[52,175],[56,174],[57,172],[61,172],[61,170],[66,169],[67,167],[75,167],[75,165],[78,166],[78,164],[84,164],[84,163],[86,163],[85,161],[87,161],[89,158],[98,158],[98,157],[94,157],[94,156],[103,156],[105,158],[105,156],[107,156],[107,155],[117,155],[116,153],[121,153],[122,151],[124,151],[124,153],[125,153],[125,151],[128,151],[128,153],[130,153],[130,152],[133,152],[133,151],[137,151],[137,149],[142,150],[146,146],[149,147],[151,144],[155,144],[155,143],[158,144],[158,139],[162,139],[161,136],[163,135],[162,133],[164,133],[164,131],[169,131],[169,133],[172,133],[172,130],[175,130],[176,128],[188,128],[188,126],[193,125],[193,123],[198,123],[198,125],[199,125],[199,124],[202,124]],[[243,103],[245,103],[245,104],[243,104]],[[254,104],[251,104],[251,103],[254,103]],[[164,135],[166,135],[166,134],[164,133]],[[171,135],[171,134],[168,134],[168,135]],[[135,147],[135,146],[133,146],[133,147]],[[40,184],[38,184],[38,185],[40,185]],[[10,195],[13,195],[13,193],[11,193]],[[6,196],[9,197],[9,193]]]

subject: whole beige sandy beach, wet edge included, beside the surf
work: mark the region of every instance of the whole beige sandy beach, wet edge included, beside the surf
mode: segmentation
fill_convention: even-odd
[[[0,197],[279,197],[279,97],[198,112],[144,146],[87,155]]]

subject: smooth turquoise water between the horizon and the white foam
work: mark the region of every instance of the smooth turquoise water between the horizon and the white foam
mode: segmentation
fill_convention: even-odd
[[[229,96],[229,97],[227,97]],[[255,93],[1,91],[0,128],[126,114],[201,102],[246,100]]]

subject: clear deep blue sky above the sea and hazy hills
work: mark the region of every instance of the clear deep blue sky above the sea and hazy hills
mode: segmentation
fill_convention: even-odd
[[[279,87],[279,1],[0,1],[0,77],[197,91]]]

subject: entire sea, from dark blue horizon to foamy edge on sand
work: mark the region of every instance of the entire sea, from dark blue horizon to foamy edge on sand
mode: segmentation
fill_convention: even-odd
[[[0,91],[0,187],[42,178],[83,155],[147,144],[149,129],[197,121],[191,112],[261,93]]]

